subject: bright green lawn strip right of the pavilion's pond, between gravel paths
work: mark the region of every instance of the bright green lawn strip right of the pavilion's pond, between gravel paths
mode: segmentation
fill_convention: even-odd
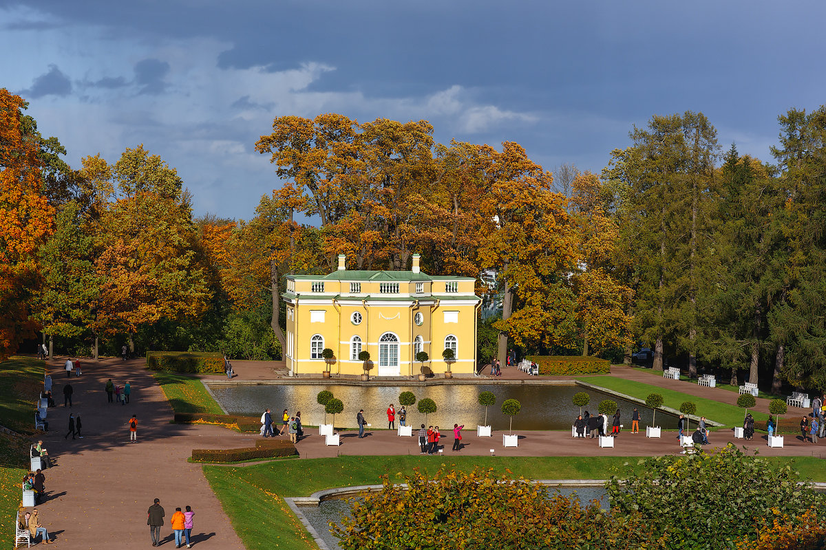
[[[577,377],[581,378],[583,382],[592,383],[602,388],[612,389],[615,392],[624,393],[631,397],[638,399],[645,399],[649,393],[659,393],[665,400],[663,405],[680,410],[680,405],[686,401],[694,402],[697,406],[697,416],[705,416],[710,420],[721,422],[727,426],[743,425],[743,409],[736,405],[729,405],[714,401],[714,399],[706,399],[705,397],[695,397],[688,393],[675,392],[671,389],[660,388],[651,384],[635,382],[634,380],[624,380],[623,378],[615,378],[612,376],[589,376]],[[766,420],[768,415],[762,412],[752,412],[754,420]]]

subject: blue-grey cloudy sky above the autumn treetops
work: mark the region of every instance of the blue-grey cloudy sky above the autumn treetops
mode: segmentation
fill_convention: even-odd
[[[771,160],[777,115],[826,103],[826,2],[0,0],[0,87],[67,162],[144,143],[196,214],[249,219],[281,115],[426,119],[599,172],[653,114],[705,113]]]

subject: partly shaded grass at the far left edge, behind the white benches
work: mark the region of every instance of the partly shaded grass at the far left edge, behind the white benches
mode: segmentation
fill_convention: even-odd
[[[0,424],[21,435],[35,434],[35,408],[43,388],[43,361],[12,357],[0,362]],[[26,437],[0,434],[0,548],[14,544],[14,515],[29,465]]]

